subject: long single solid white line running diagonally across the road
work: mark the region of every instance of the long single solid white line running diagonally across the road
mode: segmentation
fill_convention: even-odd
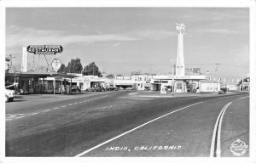
[[[199,103],[195,103],[195,104],[190,104],[190,105],[185,106],[185,107],[183,107],[183,108],[181,108],[181,109],[178,109],[178,110],[174,110],[174,111],[172,111],[172,112],[169,112],[169,113],[167,113],[166,115],[171,115],[172,113],[175,113],[175,112],[177,112],[177,111],[179,111],[179,110],[183,110],[183,109],[189,108],[190,106],[194,106],[194,105],[196,105],[196,104],[201,104],[201,103],[203,103],[203,102],[199,102]],[[117,139],[117,138],[120,138],[120,137],[126,135],[127,133],[133,132],[133,131],[137,130],[138,128],[141,128],[142,126],[146,126],[146,125],[148,125],[149,123],[151,123],[151,122],[153,122],[153,121],[157,121],[157,120],[159,120],[160,118],[165,117],[166,115],[161,115],[160,117],[155,118],[154,120],[151,120],[151,121],[148,121],[148,122],[146,122],[146,123],[143,123],[143,125],[137,126],[137,127],[133,128],[133,129],[127,131],[127,132],[124,132],[124,133],[122,133],[122,134],[119,134],[118,136],[116,136],[116,137],[114,137],[114,138],[111,138],[111,139],[107,140],[106,142],[100,143],[100,144],[96,145],[95,147],[93,147],[93,148],[91,148],[91,149],[85,150],[84,152],[80,153],[79,155],[75,155],[74,157],[80,157],[80,156],[82,156],[82,155],[85,155],[85,154],[89,153],[90,151],[92,151],[92,150],[94,150],[94,149],[97,149],[97,148],[101,147],[102,145],[104,145],[104,144],[106,144],[106,143],[112,142],[113,140],[115,140],[115,139]]]

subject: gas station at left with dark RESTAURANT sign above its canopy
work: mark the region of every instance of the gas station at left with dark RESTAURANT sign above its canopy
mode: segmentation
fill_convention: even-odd
[[[71,93],[75,76],[57,73],[61,67],[57,53],[61,52],[60,45],[23,47],[21,71],[6,73],[5,82],[14,83],[17,93]]]

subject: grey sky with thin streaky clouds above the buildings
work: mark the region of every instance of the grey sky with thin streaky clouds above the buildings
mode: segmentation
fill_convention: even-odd
[[[220,76],[247,76],[249,8],[6,8],[6,56],[20,70],[22,47],[54,44],[65,65],[79,58],[106,74],[164,75],[177,58],[176,23],[186,26],[185,68],[216,74],[220,63]]]

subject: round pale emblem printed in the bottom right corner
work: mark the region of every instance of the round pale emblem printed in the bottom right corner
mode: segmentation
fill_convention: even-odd
[[[241,156],[247,152],[248,145],[241,141],[239,138],[231,143],[230,151],[233,155]]]

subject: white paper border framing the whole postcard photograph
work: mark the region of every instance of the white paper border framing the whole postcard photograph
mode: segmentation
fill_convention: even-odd
[[[7,157],[5,158],[5,103],[1,98],[1,111],[0,111],[0,163],[1,162],[256,162],[256,5],[254,0],[0,0],[0,65],[4,65],[5,56],[5,8],[9,7],[216,7],[216,8],[250,8],[250,76],[251,76],[251,94],[250,94],[250,157],[249,158],[31,158],[31,157]],[[2,69],[3,70],[3,69]],[[4,74],[4,73],[3,73]],[[0,77],[1,82],[4,81],[4,75]],[[1,83],[3,86],[3,83]],[[3,87],[0,87],[0,92],[3,93]],[[254,100],[253,100],[254,98]]]

